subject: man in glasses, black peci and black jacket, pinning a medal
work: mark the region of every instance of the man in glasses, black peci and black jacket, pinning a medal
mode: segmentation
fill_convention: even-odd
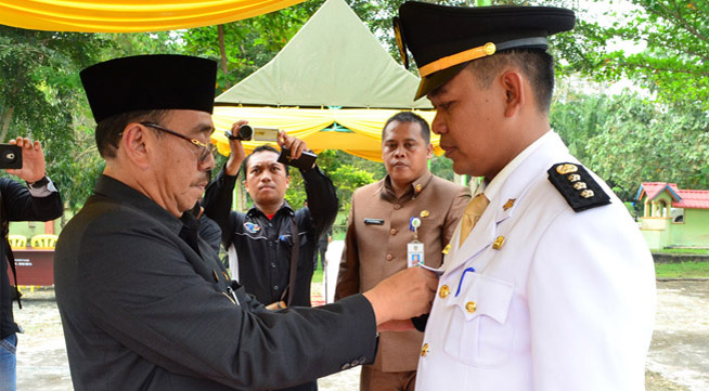
[[[272,390],[372,361],[437,279],[403,271],[319,308],[266,311],[229,281],[191,210],[215,166],[217,64],[116,58],[81,71],[106,161],[62,231],[54,289],[74,390]],[[323,338],[326,336],[326,338]]]

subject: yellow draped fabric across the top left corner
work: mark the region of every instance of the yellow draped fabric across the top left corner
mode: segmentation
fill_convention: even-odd
[[[0,24],[26,29],[137,32],[244,19],[302,0],[0,0]]]

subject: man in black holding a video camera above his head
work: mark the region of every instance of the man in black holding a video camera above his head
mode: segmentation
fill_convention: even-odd
[[[245,123],[235,122],[232,132]],[[337,216],[333,183],[318,166],[301,169],[308,206],[294,210],[284,198],[291,177],[288,166],[278,161],[279,152],[262,145],[244,159],[241,141],[230,140],[229,145],[232,153],[207,187],[204,208],[205,214],[221,229],[232,278],[262,303],[275,303],[276,308],[310,307],[312,259],[318,240]],[[284,131],[279,134],[279,145],[292,151],[294,158],[307,149],[305,142]],[[246,213],[230,208],[240,167],[254,200],[254,207]],[[293,251],[296,243],[298,250]],[[294,265],[297,265],[295,270]],[[291,286],[292,273],[295,273],[294,286]],[[317,389],[317,382],[312,381],[287,390]]]

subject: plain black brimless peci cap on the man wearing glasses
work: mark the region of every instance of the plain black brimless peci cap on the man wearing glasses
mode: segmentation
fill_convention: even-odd
[[[80,76],[96,123],[138,110],[211,114],[217,63],[177,54],[137,55],[92,65]]]

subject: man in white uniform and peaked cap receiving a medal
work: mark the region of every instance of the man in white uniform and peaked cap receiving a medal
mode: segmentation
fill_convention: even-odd
[[[556,8],[399,10],[433,131],[455,172],[485,178],[444,257],[417,391],[644,389],[653,259],[549,122],[546,38],[573,23]]]

